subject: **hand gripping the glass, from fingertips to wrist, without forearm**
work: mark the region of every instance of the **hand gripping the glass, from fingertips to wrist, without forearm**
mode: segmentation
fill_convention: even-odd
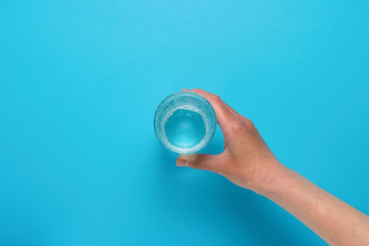
[[[224,136],[224,151],[218,155],[180,156],[176,160],[177,166],[216,172],[236,185],[261,193],[268,180],[283,166],[269,150],[253,123],[217,95],[202,89],[189,91],[199,93],[213,105]]]

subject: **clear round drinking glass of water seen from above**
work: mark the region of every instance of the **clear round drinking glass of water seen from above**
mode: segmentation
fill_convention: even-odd
[[[155,133],[170,152],[194,154],[213,138],[217,118],[212,105],[200,94],[181,91],[165,98],[154,116]]]

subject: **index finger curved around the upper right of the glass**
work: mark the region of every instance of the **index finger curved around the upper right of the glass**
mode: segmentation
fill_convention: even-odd
[[[223,132],[227,130],[228,125],[232,125],[232,122],[235,121],[235,115],[229,110],[228,106],[217,95],[202,89],[183,90],[196,92],[210,102],[215,110],[218,124]]]

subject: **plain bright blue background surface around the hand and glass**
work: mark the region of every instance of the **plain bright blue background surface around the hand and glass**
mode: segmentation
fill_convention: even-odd
[[[369,213],[369,1],[0,2],[0,245],[325,245],[177,168],[153,115],[217,93],[275,155]],[[222,150],[219,128],[207,153]]]

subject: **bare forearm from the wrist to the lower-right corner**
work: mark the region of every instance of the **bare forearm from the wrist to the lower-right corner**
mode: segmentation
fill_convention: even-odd
[[[281,166],[258,193],[297,217],[330,245],[369,245],[369,217]]]

